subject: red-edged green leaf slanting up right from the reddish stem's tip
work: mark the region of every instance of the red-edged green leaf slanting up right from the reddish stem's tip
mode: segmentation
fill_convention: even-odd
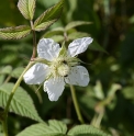
[[[43,14],[41,14],[36,21],[34,22],[35,31],[43,31],[51,26],[54,22],[56,22],[63,11],[64,0],[60,0],[57,4],[46,10]]]

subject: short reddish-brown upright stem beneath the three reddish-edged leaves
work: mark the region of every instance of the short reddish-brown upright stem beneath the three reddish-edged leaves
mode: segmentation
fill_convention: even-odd
[[[31,60],[33,60],[36,57],[36,33],[34,31],[33,27],[33,21],[30,22],[31,23],[31,29],[32,29],[32,33],[33,33],[33,55],[31,57]]]

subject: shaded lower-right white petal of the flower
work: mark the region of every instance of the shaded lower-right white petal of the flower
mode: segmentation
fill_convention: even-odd
[[[66,77],[65,81],[69,84],[77,84],[86,87],[89,83],[88,70],[82,66],[71,67],[70,73]]]

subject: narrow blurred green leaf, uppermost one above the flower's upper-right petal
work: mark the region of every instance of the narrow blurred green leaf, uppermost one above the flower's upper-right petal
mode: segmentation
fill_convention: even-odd
[[[76,26],[86,25],[86,24],[91,24],[91,22],[74,21],[74,22],[70,22],[69,24],[67,24],[65,30],[68,31],[68,30],[74,29]]]

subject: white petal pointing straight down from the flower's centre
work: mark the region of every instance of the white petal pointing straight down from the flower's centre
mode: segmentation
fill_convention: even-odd
[[[65,88],[64,78],[51,78],[44,82],[44,91],[48,93],[51,101],[57,101]]]

